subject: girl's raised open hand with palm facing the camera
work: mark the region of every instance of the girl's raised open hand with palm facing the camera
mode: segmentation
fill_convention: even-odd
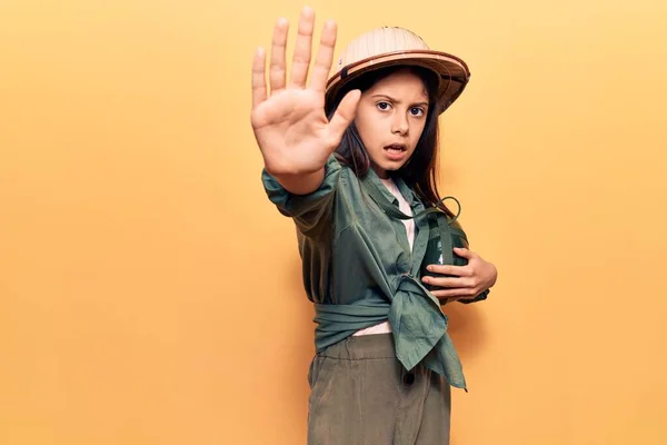
[[[252,63],[251,123],[267,171],[276,177],[308,177],[319,172],[336,150],[354,120],[360,92],[350,91],[329,121],[325,115],[325,89],[336,47],[337,28],[325,23],[320,47],[306,86],[310,66],[315,12],[303,8],[299,19],[291,78],[286,83],[288,23],[280,19],[273,30],[269,68],[270,95],[266,83],[266,55],[258,48]]]

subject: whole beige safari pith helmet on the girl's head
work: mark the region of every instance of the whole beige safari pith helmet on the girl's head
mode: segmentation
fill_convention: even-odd
[[[440,113],[458,99],[470,79],[466,62],[430,50],[414,32],[397,27],[376,28],[357,37],[340,53],[336,73],[327,82],[327,108],[341,88],[360,75],[397,65],[424,67],[438,75]]]

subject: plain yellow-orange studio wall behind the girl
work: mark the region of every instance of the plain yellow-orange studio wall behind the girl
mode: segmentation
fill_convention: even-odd
[[[472,72],[441,182],[500,274],[448,309],[452,444],[667,443],[667,3],[310,4]],[[300,7],[2,2],[0,444],[305,443],[312,310],[249,123]]]

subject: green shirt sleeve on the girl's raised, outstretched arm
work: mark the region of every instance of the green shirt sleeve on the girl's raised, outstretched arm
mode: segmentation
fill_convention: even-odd
[[[282,215],[291,217],[303,235],[317,236],[330,219],[340,170],[340,164],[331,155],[325,165],[322,184],[308,195],[289,192],[266,169],[262,170],[262,182],[269,200]]]

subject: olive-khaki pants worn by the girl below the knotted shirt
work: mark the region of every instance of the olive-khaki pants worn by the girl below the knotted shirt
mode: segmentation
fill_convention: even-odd
[[[405,370],[391,334],[351,336],[308,372],[309,445],[447,445],[450,387],[421,364]]]

